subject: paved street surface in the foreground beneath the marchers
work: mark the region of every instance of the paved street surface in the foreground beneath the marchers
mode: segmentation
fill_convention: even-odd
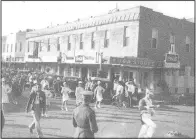
[[[27,99],[20,98],[18,106],[12,105],[5,113],[6,123],[2,137],[35,137],[29,133],[28,125],[32,122],[31,114],[24,112]],[[44,137],[61,138],[72,137],[72,111],[75,108],[74,100],[69,102],[69,111],[60,110],[60,100],[53,100],[49,117],[41,120]],[[118,109],[115,106],[102,105],[96,110],[99,132],[96,137],[112,136],[113,133],[123,137],[137,137],[140,130],[140,113],[135,109]],[[187,106],[161,106],[156,111],[154,121],[157,130],[154,137],[163,137],[171,130],[179,131],[189,137],[194,137],[194,107]],[[121,133],[120,133],[121,132]]]

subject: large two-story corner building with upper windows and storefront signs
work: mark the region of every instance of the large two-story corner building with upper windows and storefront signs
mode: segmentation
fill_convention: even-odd
[[[156,92],[162,82],[173,93],[193,90],[194,24],[146,7],[32,31],[27,43],[25,60],[49,73],[97,76],[102,59],[110,80],[133,78]]]

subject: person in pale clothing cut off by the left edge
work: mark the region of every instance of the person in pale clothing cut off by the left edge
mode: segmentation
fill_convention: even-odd
[[[12,89],[9,87],[9,85],[6,83],[5,78],[2,78],[2,106],[3,106],[3,111],[6,110],[8,107],[10,101],[9,101],[9,96]]]

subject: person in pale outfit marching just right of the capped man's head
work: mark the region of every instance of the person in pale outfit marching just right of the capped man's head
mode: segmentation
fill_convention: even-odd
[[[105,89],[101,86],[101,82],[97,82],[97,87],[95,88],[94,91],[94,98],[96,98],[95,102],[95,109],[101,108],[101,101],[103,100],[103,93],[105,92]]]

